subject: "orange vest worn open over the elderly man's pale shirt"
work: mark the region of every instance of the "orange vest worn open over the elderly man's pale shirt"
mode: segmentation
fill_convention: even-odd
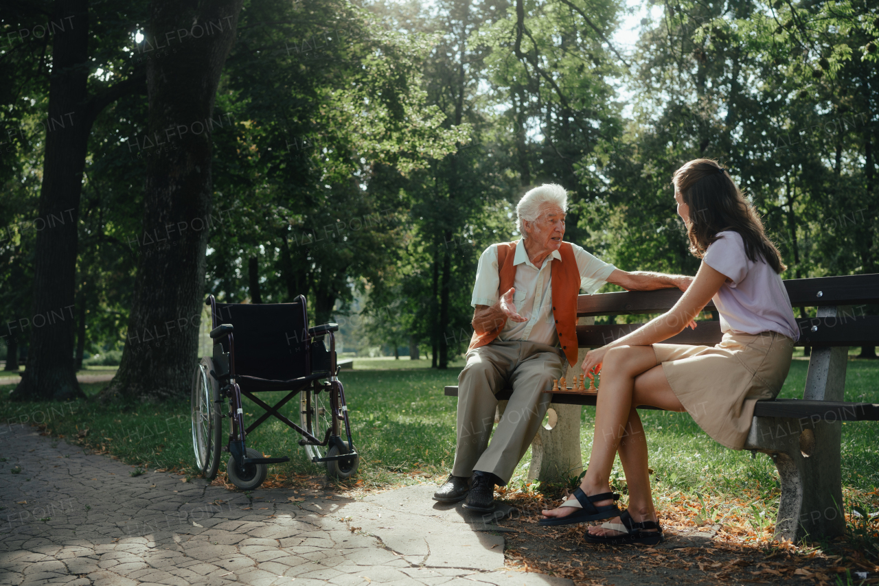
[[[564,355],[568,358],[569,365],[577,365],[577,296],[580,293],[580,271],[577,268],[577,258],[574,257],[574,249],[570,242],[562,242],[558,250],[562,255],[562,262],[552,264],[552,314],[556,320],[556,332],[562,343]],[[513,260],[516,257],[516,242],[504,242],[498,244],[498,273],[500,286],[498,298],[510,290],[516,281],[516,267]],[[546,261],[544,261],[546,262]],[[518,309],[518,307],[517,307]],[[495,321],[495,329],[477,334],[473,332],[470,338],[468,350],[479,348],[494,341],[500,331],[506,325],[506,318]]]

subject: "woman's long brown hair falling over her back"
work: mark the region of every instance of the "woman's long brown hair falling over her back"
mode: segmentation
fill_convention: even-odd
[[[674,172],[672,184],[690,207],[686,235],[694,257],[705,255],[708,246],[717,241],[718,232],[731,230],[742,236],[745,256],[753,263],[762,257],[777,273],[788,268],[781,262],[781,253],[766,237],[754,207],[716,161],[694,159],[686,163]]]

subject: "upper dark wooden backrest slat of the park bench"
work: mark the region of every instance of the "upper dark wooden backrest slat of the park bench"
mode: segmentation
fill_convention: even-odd
[[[879,274],[788,279],[784,286],[792,307],[879,303]],[[678,289],[661,289],[580,295],[577,315],[660,314],[671,309],[682,294]],[[705,308],[714,309],[714,304]]]

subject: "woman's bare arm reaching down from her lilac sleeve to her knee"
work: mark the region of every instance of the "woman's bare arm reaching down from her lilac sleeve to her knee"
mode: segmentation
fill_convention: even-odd
[[[611,273],[611,275],[613,274]],[[708,305],[708,301],[716,295],[726,280],[726,275],[703,262],[692,285],[686,288],[674,307],[666,311],[665,314],[645,323],[643,327],[636,329],[631,334],[622,336],[606,346],[586,352],[583,370],[588,373],[596,368],[596,373],[601,372],[601,363],[604,362],[605,353],[616,346],[649,346],[679,334],[686,328],[687,324],[693,322],[702,308]]]

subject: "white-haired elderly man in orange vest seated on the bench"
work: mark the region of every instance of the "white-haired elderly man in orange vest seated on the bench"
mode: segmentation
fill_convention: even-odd
[[[577,362],[577,296],[607,283],[636,291],[686,290],[691,277],[626,272],[563,242],[567,192],[543,184],[516,206],[518,242],[492,244],[476,269],[473,338],[458,377],[454,467],[433,495],[442,503],[494,510],[494,487],[505,485],[537,433],[551,395],[542,391]],[[489,444],[498,401],[512,397]]]

